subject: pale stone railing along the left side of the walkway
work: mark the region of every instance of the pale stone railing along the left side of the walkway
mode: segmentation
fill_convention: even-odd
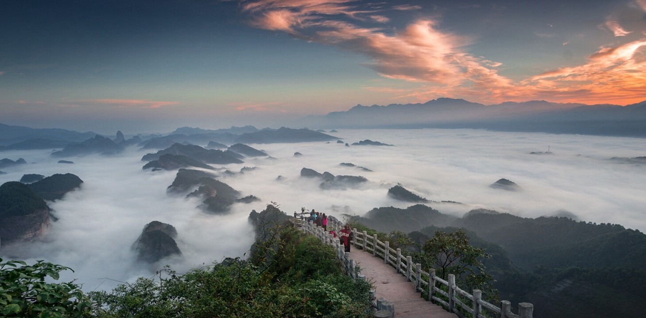
[[[346,273],[348,273],[350,277],[363,281],[366,280],[366,276],[361,274],[360,268],[356,266],[355,261],[350,258],[350,253],[345,252],[345,248],[343,244],[340,243],[339,237],[334,237],[332,234],[329,234],[330,230],[338,232],[341,229],[342,223],[338,219],[335,219],[335,217],[328,217],[328,231],[325,231],[322,227],[317,226],[311,221],[305,221],[304,217],[298,217],[296,212],[294,212],[294,216],[296,226],[300,227],[303,232],[318,237],[318,239],[323,243],[328,244],[335,249],[337,257],[340,259]],[[377,299],[375,290],[370,291],[370,300],[373,308],[377,310],[376,312],[373,312],[373,317],[395,317],[395,305],[390,301],[386,301],[385,298]]]

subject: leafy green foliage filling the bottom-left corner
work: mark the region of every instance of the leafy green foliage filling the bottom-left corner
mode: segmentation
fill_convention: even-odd
[[[59,272],[71,268],[37,261],[0,259],[1,317],[93,317],[92,301],[74,281],[45,283],[59,279]],[[72,271],[73,272],[73,271]]]

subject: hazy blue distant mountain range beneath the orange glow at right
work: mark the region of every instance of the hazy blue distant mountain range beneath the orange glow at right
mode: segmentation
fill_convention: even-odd
[[[626,106],[548,101],[485,105],[439,98],[418,104],[359,104],[346,112],[307,116],[302,124],[317,128],[485,128],[646,137],[646,101]]]

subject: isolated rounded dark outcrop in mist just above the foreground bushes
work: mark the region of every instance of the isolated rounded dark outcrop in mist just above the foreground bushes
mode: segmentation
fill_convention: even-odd
[[[171,224],[152,221],[146,224],[132,248],[137,252],[137,258],[147,263],[155,263],[172,255],[182,255],[175,238],[177,230]]]

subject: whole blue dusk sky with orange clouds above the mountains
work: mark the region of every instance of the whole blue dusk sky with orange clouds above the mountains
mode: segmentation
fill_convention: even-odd
[[[297,126],[355,104],[646,100],[646,0],[10,1],[0,123]]]

